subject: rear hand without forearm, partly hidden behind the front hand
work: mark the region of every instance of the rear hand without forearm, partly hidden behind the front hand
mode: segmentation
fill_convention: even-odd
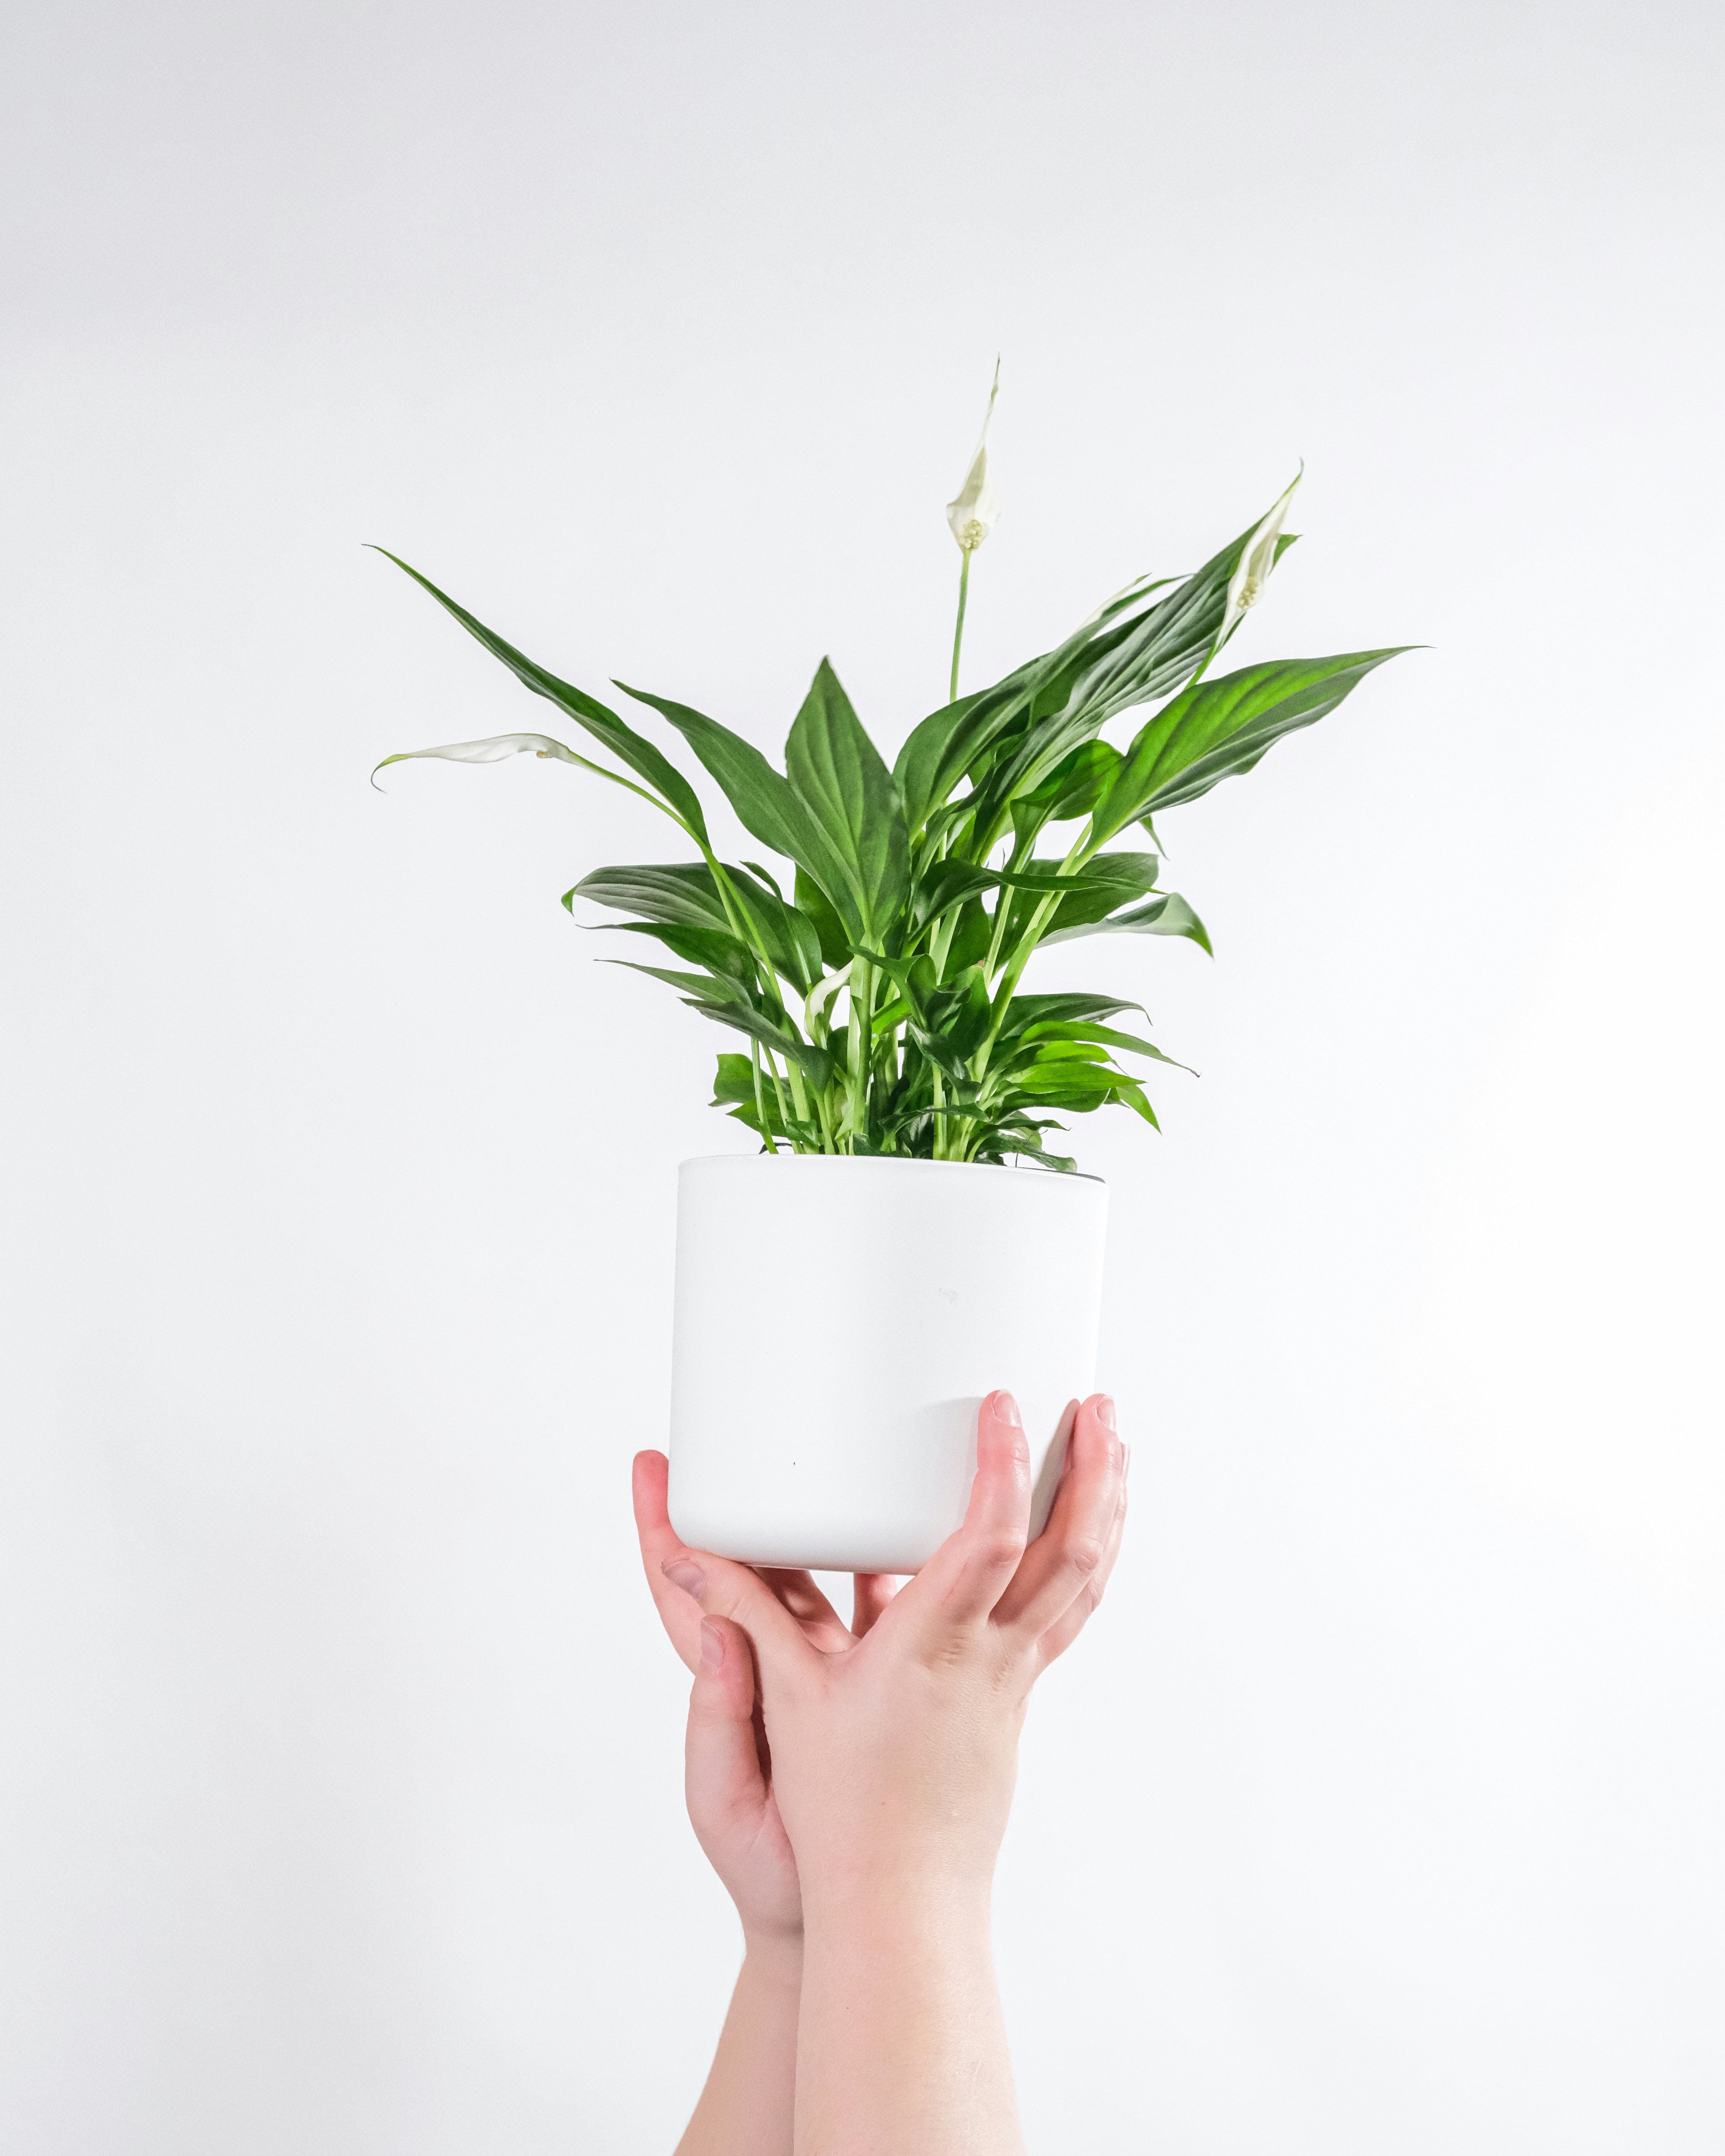
[[[737,1906],[750,1947],[802,1936],[796,1856],[785,1835],[772,1755],[746,1632],[727,1615],[703,1617],[666,1567],[688,1557],[664,1509],[664,1453],[636,1453],[634,1518],[640,1561],[671,1645],[694,1673],[684,1742],[684,1792],[694,1837]],[[891,1602],[895,1583],[856,1580],[847,1628],[806,1572],[750,1574],[817,1654],[854,1647]]]

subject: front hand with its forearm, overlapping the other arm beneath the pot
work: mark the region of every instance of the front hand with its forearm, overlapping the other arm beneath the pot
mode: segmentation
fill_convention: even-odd
[[[1113,1401],[1078,1410],[1048,1526],[1026,1548],[1029,1522],[1018,1408],[990,1393],[964,1526],[895,1600],[858,1580],[847,1636],[824,1602],[811,1628],[772,1574],[688,1550],[668,1522],[653,1535],[686,1602],[666,1623],[688,1628],[699,1608],[742,1626],[759,1656],[806,1925],[798,2147],[1022,2156],[988,1899],[1031,1686],[1082,1630],[1119,1552]]]

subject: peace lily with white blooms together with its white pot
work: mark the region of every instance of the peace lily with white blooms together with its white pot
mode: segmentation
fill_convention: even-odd
[[[826,660],[783,770],[692,705],[617,683],[681,737],[776,869],[720,860],[696,789],[653,740],[390,554],[608,761],[541,733],[408,757],[576,763],[651,802],[696,856],[593,869],[563,895],[571,912],[630,916],[623,929],[675,962],[636,970],[740,1037],[714,1106],[759,1151],[688,1160],[679,1179],[671,1518],[696,1548],[914,1572],[964,1516],[992,1386],[1020,1401],[1033,1526],[1046,1518],[1093,1382],[1106,1225],[1104,1186],[1050,1132],[1104,1106],[1154,1125],[1132,1059],[1171,1059],[1141,1005],[1035,994],[1024,972],[1078,936],[1210,951],[1160,886],[1154,819],[1248,772],[1395,655],[1212,671],[1294,543],[1292,496],[1195,573],[1136,578],[1052,651],[960,696],[970,563],[996,515],[983,423],[949,505],[949,699],[891,765]],[[1104,740],[1145,707],[1123,744]]]

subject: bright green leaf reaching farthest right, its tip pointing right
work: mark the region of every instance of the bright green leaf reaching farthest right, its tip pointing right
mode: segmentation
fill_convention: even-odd
[[[1374,666],[1408,649],[1393,645],[1326,660],[1270,660],[1218,681],[1197,681],[1134,737],[1119,776],[1095,808],[1095,839],[1197,800],[1220,778],[1248,772],[1285,733],[1335,711]]]

